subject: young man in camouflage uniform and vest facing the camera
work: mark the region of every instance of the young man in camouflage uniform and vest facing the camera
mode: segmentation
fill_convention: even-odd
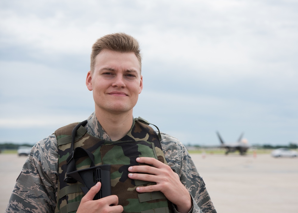
[[[86,85],[95,112],[35,144],[6,212],[216,212],[183,144],[133,118],[143,89],[136,39],[124,33],[98,39]],[[71,158],[79,150],[91,154]],[[72,159],[77,171],[111,165],[112,195],[93,200],[105,183],[85,195],[82,183],[67,179]]]

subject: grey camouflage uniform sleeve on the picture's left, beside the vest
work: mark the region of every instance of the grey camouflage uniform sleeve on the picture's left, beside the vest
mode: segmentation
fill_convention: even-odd
[[[6,212],[54,212],[58,178],[55,135],[33,146],[18,176]]]

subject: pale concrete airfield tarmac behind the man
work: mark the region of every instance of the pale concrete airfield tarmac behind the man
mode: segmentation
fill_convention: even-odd
[[[191,154],[218,213],[298,212],[298,158]],[[27,157],[0,154],[0,212]]]

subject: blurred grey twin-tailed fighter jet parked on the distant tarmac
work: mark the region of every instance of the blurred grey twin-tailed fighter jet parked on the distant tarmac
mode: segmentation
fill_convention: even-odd
[[[219,135],[219,132],[216,132],[219,140],[221,141],[221,147],[226,149],[226,155],[229,154],[229,152],[235,152],[238,150],[240,152],[240,155],[245,155],[247,150],[249,149],[249,145],[246,139],[242,139],[243,134],[242,133],[235,143],[224,143],[223,139]]]

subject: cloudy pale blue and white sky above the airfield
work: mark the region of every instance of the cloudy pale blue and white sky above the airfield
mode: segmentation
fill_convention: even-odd
[[[294,0],[1,0],[0,143],[35,142],[94,111],[94,41],[131,34],[144,89],[134,109],[184,144],[298,143]]]

